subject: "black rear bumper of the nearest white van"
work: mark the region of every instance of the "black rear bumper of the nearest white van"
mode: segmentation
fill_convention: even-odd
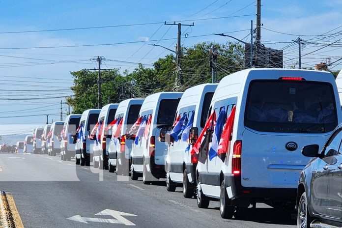
[[[270,200],[295,202],[297,189],[295,188],[246,188],[241,185],[241,176],[225,175],[226,189],[230,199],[253,199],[255,202]],[[230,188],[229,188],[230,187]],[[231,191],[230,191],[231,190]]]

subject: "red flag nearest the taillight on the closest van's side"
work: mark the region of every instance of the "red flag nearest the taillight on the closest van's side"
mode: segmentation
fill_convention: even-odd
[[[222,161],[225,160],[230,145],[230,136],[233,130],[235,111],[236,108],[234,106],[226,120],[225,126],[223,127],[222,137],[219,142],[217,155],[222,159]]]

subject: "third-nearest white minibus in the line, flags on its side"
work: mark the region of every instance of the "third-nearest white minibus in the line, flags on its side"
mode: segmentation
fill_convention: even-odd
[[[158,92],[142,103],[140,129],[131,152],[131,178],[142,175],[144,184],[166,177],[165,156],[168,145],[159,140],[162,128],[172,126],[177,106],[183,93]],[[141,174],[142,173],[142,174]]]

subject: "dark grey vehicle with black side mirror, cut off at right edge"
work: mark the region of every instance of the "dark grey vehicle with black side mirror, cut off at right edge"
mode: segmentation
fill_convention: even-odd
[[[313,157],[300,174],[297,189],[298,228],[342,227],[342,124],[319,151],[317,144],[304,146]]]

